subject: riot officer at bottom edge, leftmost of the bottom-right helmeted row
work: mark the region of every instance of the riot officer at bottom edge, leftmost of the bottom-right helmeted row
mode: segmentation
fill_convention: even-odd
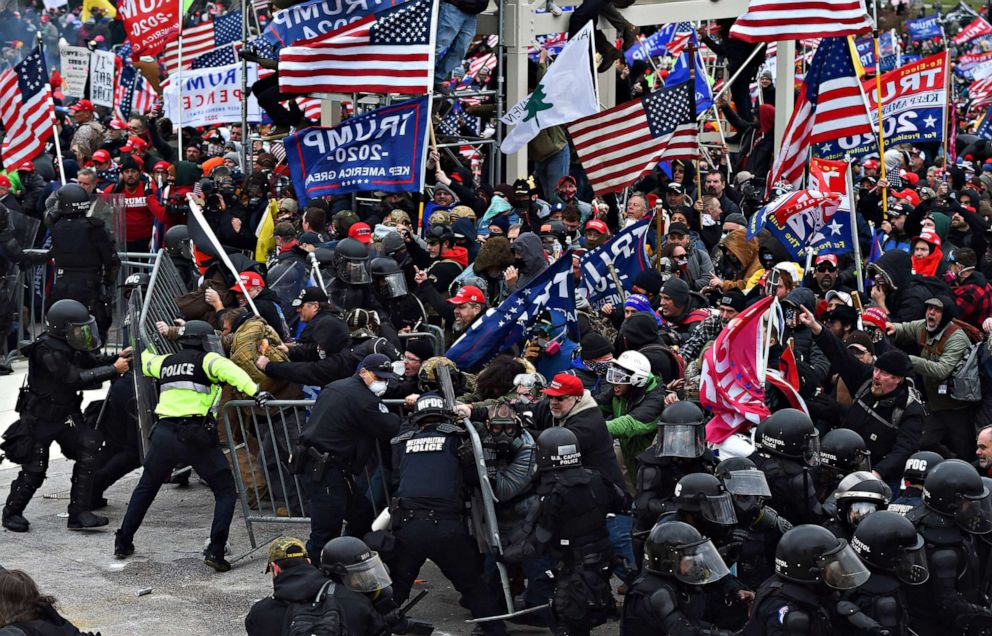
[[[621,636],[725,634],[707,623],[707,587],[730,574],[713,543],[687,523],[659,523],[644,542],[644,569],[624,597]]]

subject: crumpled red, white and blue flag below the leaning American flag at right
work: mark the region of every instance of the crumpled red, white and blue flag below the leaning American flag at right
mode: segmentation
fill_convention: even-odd
[[[824,239],[823,231],[833,221],[840,196],[816,190],[798,190],[778,197],[751,217],[747,237],[767,228],[785,246],[793,259],[804,249]]]

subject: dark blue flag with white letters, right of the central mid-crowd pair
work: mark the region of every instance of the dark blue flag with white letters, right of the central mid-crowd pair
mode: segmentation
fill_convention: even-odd
[[[617,233],[606,243],[587,252],[579,260],[589,304],[597,311],[605,304],[623,303],[623,290],[617,289],[610,272],[613,266],[624,290],[630,289],[634,277],[648,268],[647,233],[651,219],[638,221]]]

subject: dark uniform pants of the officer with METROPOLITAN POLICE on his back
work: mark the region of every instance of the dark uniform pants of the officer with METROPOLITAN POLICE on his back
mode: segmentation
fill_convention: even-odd
[[[397,512],[402,515],[403,511]],[[445,578],[462,595],[472,616],[495,616],[499,606],[488,592],[482,576],[482,564],[475,540],[469,536],[461,519],[435,521],[414,519],[394,523],[396,549],[390,567],[393,598],[402,605],[410,595],[420,568],[427,559],[441,569]],[[504,634],[502,622],[481,623],[487,634]]]

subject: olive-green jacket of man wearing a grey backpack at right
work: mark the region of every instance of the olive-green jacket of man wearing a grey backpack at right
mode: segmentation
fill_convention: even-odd
[[[949,323],[932,336],[927,334],[926,344],[922,347],[923,350],[920,355],[909,356],[910,362],[913,363],[913,370],[923,376],[923,386],[927,391],[927,410],[930,412],[963,409],[968,406],[967,402],[959,402],[948,396],[946,387],[947,379],[951,377],[954,368],[971,348],[971,341],[967,334],[963,330],[955,328],[954,333],[948,336],[944,343],[942,354],[928,350],[929,348],[936,348],[940,338],[951,328],[951,324]],[[913,343],[919,345],[920,337],[926,331],[927,321],[897,322],[895,327],[896,344]],[[941,392],[942,386],[945,389],[943,392]]]

